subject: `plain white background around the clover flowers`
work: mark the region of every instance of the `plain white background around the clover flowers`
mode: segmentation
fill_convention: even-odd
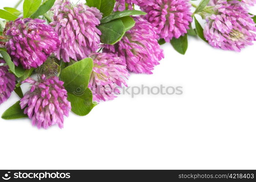
[[[120,95],[71,114],[62,130],[0,119],[0,169],[256,169],[256,46],[236,53],[189,37],[185,56],[162,48],[154,74],[128,84],[182,86],[183,95]]]

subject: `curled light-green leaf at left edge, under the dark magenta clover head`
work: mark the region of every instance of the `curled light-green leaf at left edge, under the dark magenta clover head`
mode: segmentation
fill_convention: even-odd
[[[15,66],[14,63],[11,60],[11,57],[9,54],[3,50],[0,50],[1,55],[3,56],[5,62],[8,64],[9,69],[18,77],[20,78],[24,73],[25,70],[21,65]]]

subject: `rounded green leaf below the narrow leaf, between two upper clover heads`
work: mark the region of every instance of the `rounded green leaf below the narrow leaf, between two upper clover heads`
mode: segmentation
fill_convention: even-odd
[[[121,40],[125,33],[125,27],[120,19],[112,20],[98,26],[101,31],[101,43],[115,44]]]

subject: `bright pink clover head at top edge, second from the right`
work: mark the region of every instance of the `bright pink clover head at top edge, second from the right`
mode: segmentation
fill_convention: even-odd
[[[146,0],[138,5],[152,26],[157,27],[159,38],[166,42],[187,33],[192,22],[189,0]]]

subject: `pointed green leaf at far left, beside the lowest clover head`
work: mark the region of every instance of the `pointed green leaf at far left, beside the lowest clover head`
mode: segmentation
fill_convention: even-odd
[[[24,110],[20,108],[20,101],[16,102],[10,108],[8,108],[2,115],[3,119],[19,119],[27,118],[28,116],[24,114]]]

